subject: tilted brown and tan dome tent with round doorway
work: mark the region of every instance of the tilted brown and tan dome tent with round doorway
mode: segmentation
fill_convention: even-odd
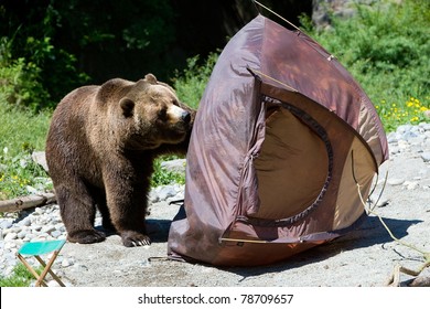
[[[366,216],[361,195],[387,158],[347,71],[258,15],[225,46],[201,100],[168,255],[255,266],[338,237]]]

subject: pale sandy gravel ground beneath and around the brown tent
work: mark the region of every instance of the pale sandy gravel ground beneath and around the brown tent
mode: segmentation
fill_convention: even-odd
[[[430,252],[430,127],[399,128],[388,136],[390,159],[380,169],[374,200],[387,175],[387,184],[375,211],[393,233],[423,252]],[[418,269],[423,256],[389,236],[375,215],[355,232],[292,258],[266,267],[218,268],[165,259],[170,222],[176,205],[151,206],[149,224],[153,244],[126,248],[119,236],[106,242],[67,243],[63,258],[72,265],[58,269],[69,286],[79,287],[380,287],[396,265]],[[63,263],[64,264],[64,263]],[[427,267],[421,275],[429,277]],[[401,274],[407,285],[413,277]]]

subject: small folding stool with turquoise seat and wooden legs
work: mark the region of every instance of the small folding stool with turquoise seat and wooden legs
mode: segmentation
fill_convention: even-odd
[[[30,270],[30,273],[37,279],[36,284],[35,284],[36,287],[40,287],[40,286],[47,287],[47,284],[45,281],[45,277],[46,277],[47,273],[51,274],[51,276],[60,284],[60,286],[65,287],[65,285],[58,278],[58,276],[55,275],[54,271],[51,270],[51,266],[54,264],[55,258],[58,256],[58,253],[65,243],[66,243],[65,239],[25,243],[18,251],[18,253],[17,253],[18,258],[22,262],[22,264],[24,264],[24,266]],[[47,264],[45,264],[45,262],[43,262],[43,259],[40,257],[40,255],[52,253],[52,252],[53,252],[52,257],[50,258]],[[37,259],[39,263],[44,267],[41,275],[39,275],[31,267],[31,265],[23,257],[24,255],[25,256],[34,256],[35,259]]]

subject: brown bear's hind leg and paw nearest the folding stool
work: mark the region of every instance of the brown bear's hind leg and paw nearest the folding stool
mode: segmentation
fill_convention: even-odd
[[[60,213],[67,231],[67,239],[72,243],[93,244],[105,241],[105,233],[94,228],[96,207],[85,185],[82,190],[56,187],[55,194]]]

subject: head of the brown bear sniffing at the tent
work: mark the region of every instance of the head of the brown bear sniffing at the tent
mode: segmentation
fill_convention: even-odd
[[[121,131],[119,135],[126,149],[146,150],[162,143],[179,143],[190,132],[192,109],[179,100],[171,86],[158,82],[154,75],[148,74],[136,83],[128,82],[121,89],[110,88],[112,92],[119,102],[115,116],[121,124],[116,128]]]

